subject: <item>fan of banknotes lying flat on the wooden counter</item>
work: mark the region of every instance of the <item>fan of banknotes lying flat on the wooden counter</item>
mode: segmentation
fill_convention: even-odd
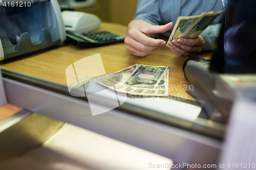
[[[169,70],[166,66],[135,64],[93,80],[105,87],[132,95],[168,95]]]

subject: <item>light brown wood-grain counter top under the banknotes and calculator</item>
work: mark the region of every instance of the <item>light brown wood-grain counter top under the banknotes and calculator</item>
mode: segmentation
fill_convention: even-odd
[[[125,36],[126,27],[103,22],[99,30],[110,31]],[[182,65],[187,58],[177,57],[166,45],[145,56],[131,55],[125,49],[125,44],[114,44],[95,48],[84,48],[75,44],[63,47],[50,47],[45,50],[14,57],[1,62],[1,67],[21,72],[41,79],[67,84],[66,68],[85,57],[100,53],[106,72],[115,72],[135,63],[145,65],[165,65],[169,67],[169,95],[195,100],[185,91],[189,85],[184,78]],[[211,53],[199,53],[199,57],[209,59]],[[91,65],[91,67],[95,67]]]

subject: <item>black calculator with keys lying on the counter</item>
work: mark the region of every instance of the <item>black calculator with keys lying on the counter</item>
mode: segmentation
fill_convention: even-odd
[[[108,32],[87,32],[87,33],[73,33],[67,32],[67,39],[84,47],[97,47],[103,45],[110,45],[124,42],[125,37]]]

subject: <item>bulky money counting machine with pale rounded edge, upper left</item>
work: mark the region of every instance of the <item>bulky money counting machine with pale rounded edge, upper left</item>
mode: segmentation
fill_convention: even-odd
[[[0,60],[41,50],[66,40],[56,0],[0,2]]]

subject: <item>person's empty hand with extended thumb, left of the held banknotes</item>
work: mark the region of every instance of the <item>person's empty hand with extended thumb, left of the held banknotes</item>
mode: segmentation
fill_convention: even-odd
[[[129,53],[136,56],[145,56],[156,50],[157,46],[165,44],[162,39],[154,39],[150,36],[154,33],[164,33],[173,27],[173,22],[164,26],[153,26],[143,20],[132,20],[126,32],[124,40],[125,48]]]

